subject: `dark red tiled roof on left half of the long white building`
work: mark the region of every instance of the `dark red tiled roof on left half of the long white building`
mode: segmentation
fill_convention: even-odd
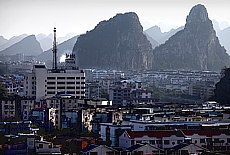
[[[143,137],[144,135],[148,137],[156,137],[156,138],[162,138],[162,137],[170,137],[172,135],[175,135],[177,137],[184,137],[183,133],[181,131],[129,131],[127,132],[131,139],[134,139],[136,137]]]

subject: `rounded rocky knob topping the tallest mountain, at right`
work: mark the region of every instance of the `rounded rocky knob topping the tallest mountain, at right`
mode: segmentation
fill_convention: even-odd
[[[208,21],[208,12],[204,5],[198,4],[195,5],[189,15],[187,16],[186,23],[194,23],[194,22],[206,22]]]

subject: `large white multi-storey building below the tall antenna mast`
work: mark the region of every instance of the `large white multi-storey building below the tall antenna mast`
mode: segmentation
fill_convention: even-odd
[[[49,70],[45,65],[34,65],[24,77],[24,95],[36,101],[56,94],[70,94],[77,99],[85,97],[85,73],[78,69]]]

